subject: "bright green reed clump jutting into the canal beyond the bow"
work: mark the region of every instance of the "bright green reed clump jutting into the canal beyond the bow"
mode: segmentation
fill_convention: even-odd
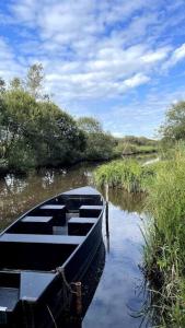
[[[154,166],[142,166],[135,160],[122,160],[97,167],[94,179],[100,187],[108,185],[111,188],[124,188],[129,192],[142,192],[147,190],[154,174]]]

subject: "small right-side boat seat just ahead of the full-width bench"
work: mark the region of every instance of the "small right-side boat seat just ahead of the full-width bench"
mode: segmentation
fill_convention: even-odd
[[[94,218],[71,218],[68,221],[68,234],[85,236],[96,222]]]

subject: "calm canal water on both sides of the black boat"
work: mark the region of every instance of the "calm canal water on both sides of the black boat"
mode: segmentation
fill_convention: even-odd
[[[71,188],[93,186],[94,168],[83,164],[69,171],[45,169],[28,177],[8,175],[1,178],[0,229],[47,198]],[[109,236],[104,222],[104,244],[99,251],[99,261],[96,257],[84,282],[83,320],[70,327],[152,327],[144,313],[148,295],[140,269],[143,253],[143,199],[123,190],[109,190],[108,200]],[[89,293],[91,289],[93,291]]]

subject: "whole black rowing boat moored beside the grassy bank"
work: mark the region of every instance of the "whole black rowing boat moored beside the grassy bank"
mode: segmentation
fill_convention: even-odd
[[[0,326],[48,327],[73,295],[102,242],[105,201],[92,187],[39,203],[0,234]],[[79,302],[79,300],[77,300]]]

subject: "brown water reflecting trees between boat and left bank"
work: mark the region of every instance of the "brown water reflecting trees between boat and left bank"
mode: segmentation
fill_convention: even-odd
[[[18,177],[13,174],[0,179],[0,230],[15,218],[42,202],[68,189],[92,184],[90,165],[69,169],[43,169],[38,174]]]

